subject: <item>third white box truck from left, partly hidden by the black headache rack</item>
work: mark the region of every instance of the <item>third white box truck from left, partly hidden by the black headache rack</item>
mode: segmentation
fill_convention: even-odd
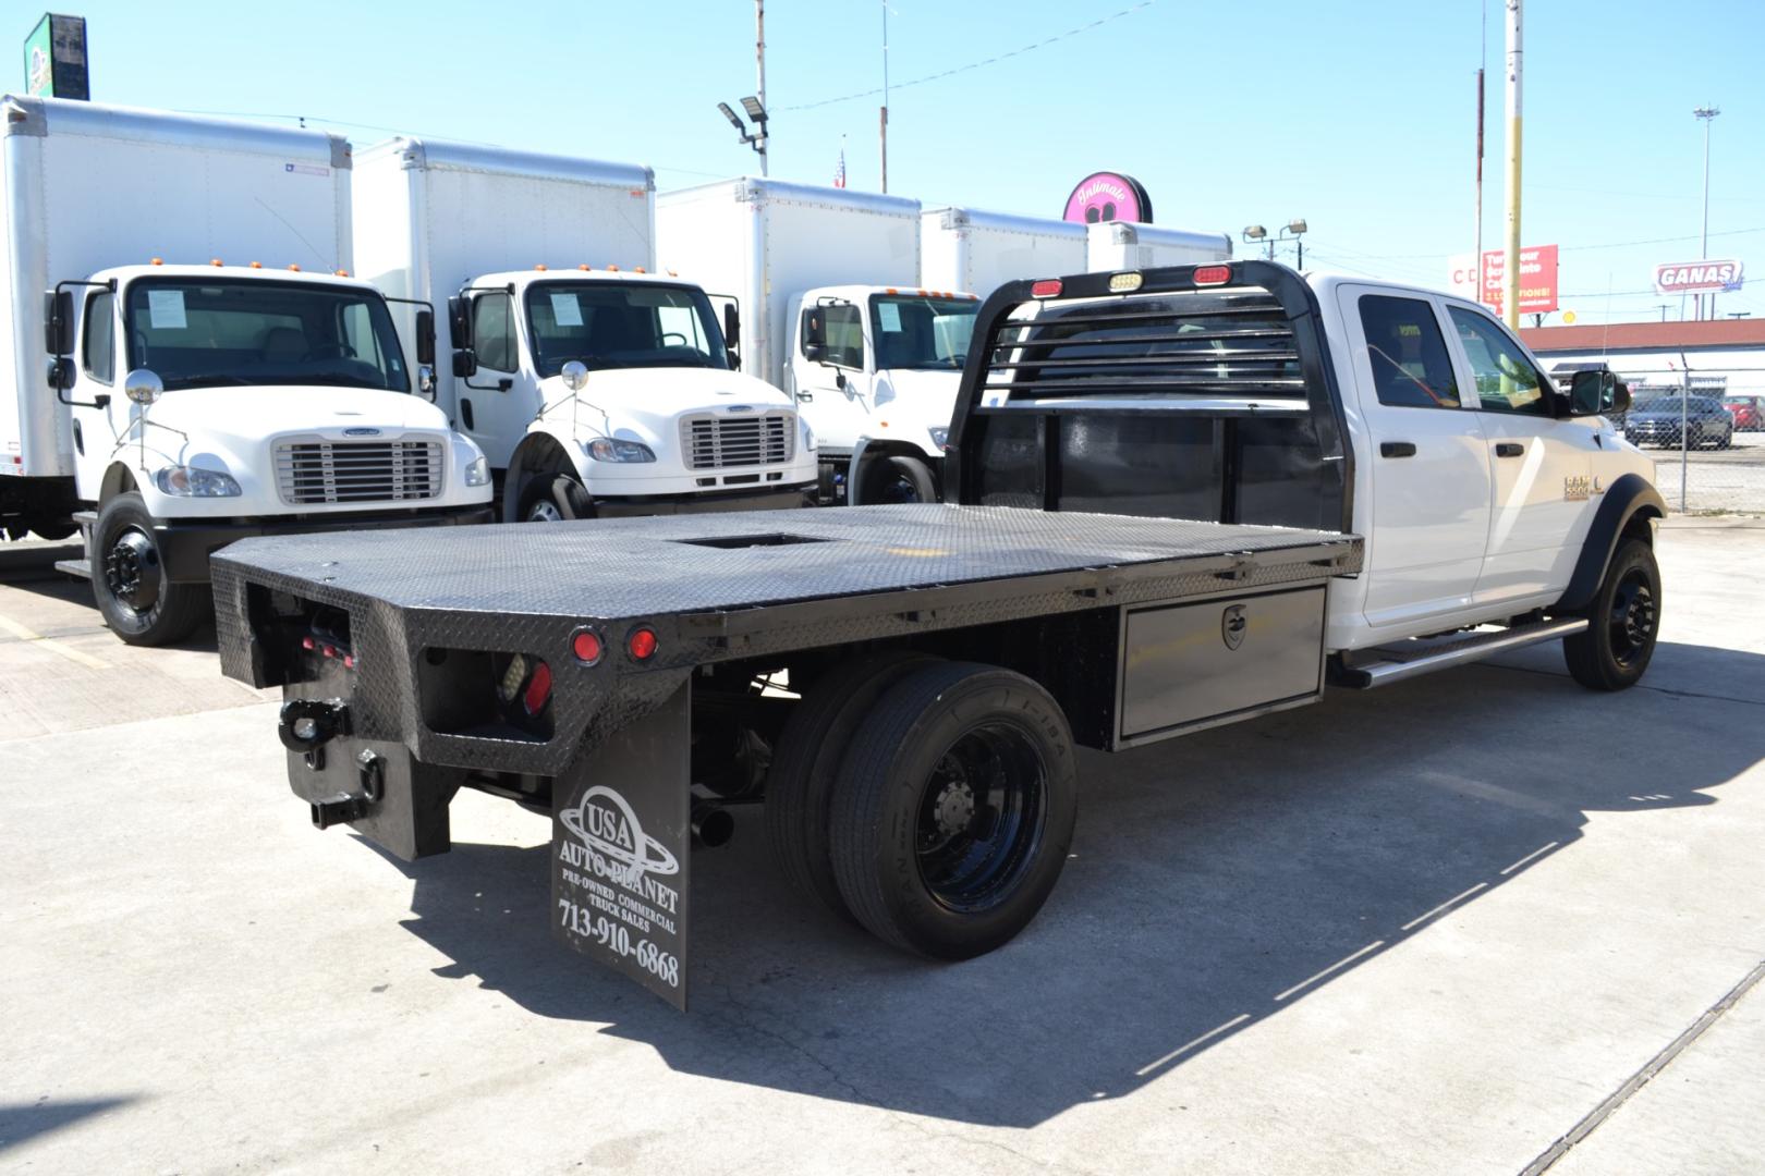
[[[741,301],[741,367],[821,439],[821,497],[935,501],[980,301],[920,280],[920,203],[752,176],[657,199],[664,266]]]

